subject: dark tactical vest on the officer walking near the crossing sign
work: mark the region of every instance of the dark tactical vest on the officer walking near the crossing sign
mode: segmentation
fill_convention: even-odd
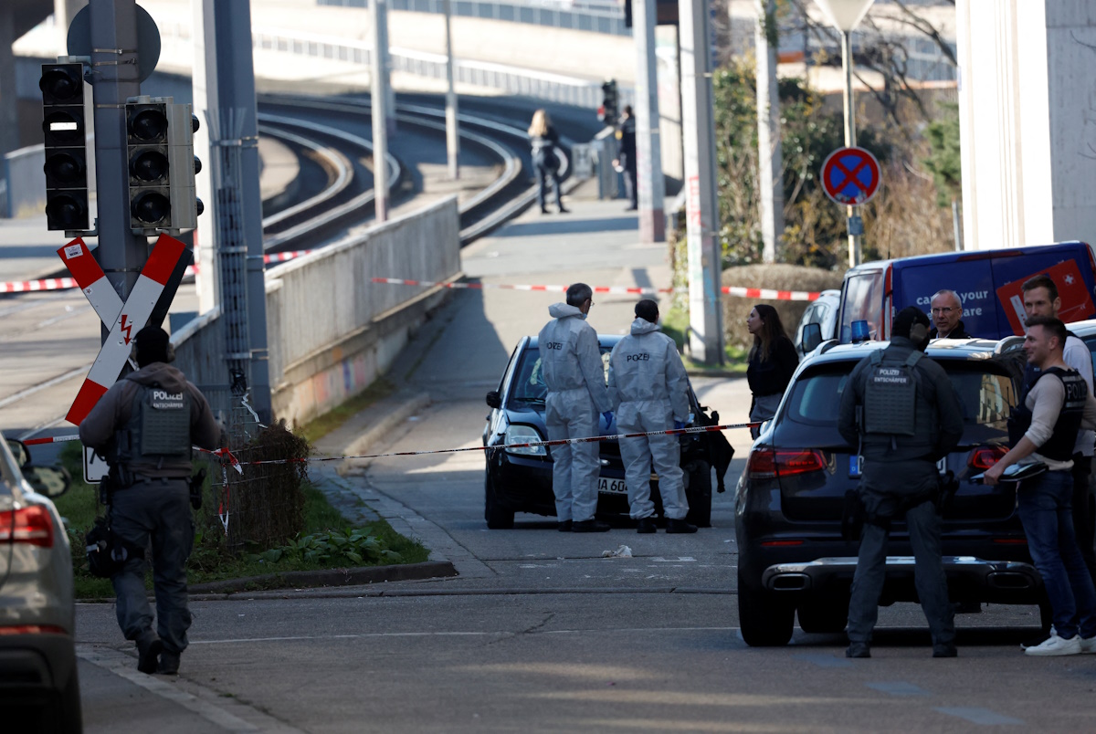
[[[183,388],[139,386],[129,421],[114,434],[113,465],[155,463],[191,458],[191,398]]]

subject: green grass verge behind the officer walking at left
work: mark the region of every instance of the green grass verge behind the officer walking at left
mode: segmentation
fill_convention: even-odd
[[[98,488],[87,484],[82,479],[83,457],[80,445],[76,443],[67,445],[61,451],[61,462],[72,474],[72,485],[54,502],[65,518],[69,542],[72,544],[76,596],[80,599],[113,597],[111,581],[91,575],[82,550],[83,536],[103,508],[98,504]],[[251,552],[243,555],[226,553],[214,542],[203,542],[207,539],[203,539],[199,532],[195,537],[194,552],[187,562],[190,583],[201,584],[286,571],[421,563],[430,555],[430,551],[421,543],[396,532],[387,521],[379,519],[354,527],[328,503],[321,490],[310,483],[302,489],[305,494],[302,532],[285,546],[251,548],[249,549]],[[151,572],[146,577],[146,586],[152,588]],[[273,578],[265,583],[251,584],[249,588],[258,590],[281,586],[281,582]]]

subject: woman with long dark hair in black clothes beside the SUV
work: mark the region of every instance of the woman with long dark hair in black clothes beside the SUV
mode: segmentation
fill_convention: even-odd
[[[746,330],[753,334],[754,343],[750,347],[750,366],[746,368],[746,380],[753,401],[750,403],[750,422],[760,423],[776,415],[791,376],[799,365],[796,347],[784,332],[780,314],[767,303],[757,303],[746,319]],[[760,427],[750,428],[754,438],[761,433]]]

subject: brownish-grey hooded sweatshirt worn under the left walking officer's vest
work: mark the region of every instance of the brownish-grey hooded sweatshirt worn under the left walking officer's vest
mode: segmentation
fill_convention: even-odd
[[[186,377],[171,365],[153,362],[136,372],[126,375],[111,386],[95,404],[88,417],[80,424],[80,440],[96,451],[105,452],[114,439],[114,434],[129,422],[134,400],[141,397],[140,387],[160,387],[168,392],[183,392],[190,395],[191,444],[205,449],[218,448],[220,427],[213,417],[205,395],[187,381]],[[187,459],[164,460],[162,466],[152,462],[134,462],[129,469],[145,477],[187,478],[193,469]]]

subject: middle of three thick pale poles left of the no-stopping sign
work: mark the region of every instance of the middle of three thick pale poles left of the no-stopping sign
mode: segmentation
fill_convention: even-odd
[[[689,352],[723,363],[716,133],[711,58],[705,0],[678,0],[682,57],[682,127],[685,149],[688,240]]]

